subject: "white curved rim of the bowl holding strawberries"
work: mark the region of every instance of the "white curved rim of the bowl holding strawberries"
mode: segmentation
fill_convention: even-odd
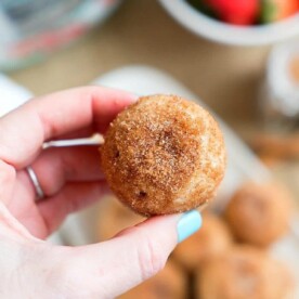
[[[258,26],[235,26],[210,18],[185,0],[159,0],[184,27],[207,39],[234,46],[261,46],[299,35],[299,14],[285,21]]]

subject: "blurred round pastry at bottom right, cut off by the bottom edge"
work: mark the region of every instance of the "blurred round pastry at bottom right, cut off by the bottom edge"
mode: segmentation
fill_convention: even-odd
[[[292,277],[281,262],[249,246],[208,260],[195,283],[198,299],[282,299],[289,298],[292,287]]]

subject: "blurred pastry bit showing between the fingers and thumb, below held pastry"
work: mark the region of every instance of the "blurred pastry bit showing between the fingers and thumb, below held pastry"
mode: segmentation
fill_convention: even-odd
[[[144,217],[134,213],[112,196],[107,198],[99,214],[99,240],[108,239],[120,231],[142,222],[144,219]]]

